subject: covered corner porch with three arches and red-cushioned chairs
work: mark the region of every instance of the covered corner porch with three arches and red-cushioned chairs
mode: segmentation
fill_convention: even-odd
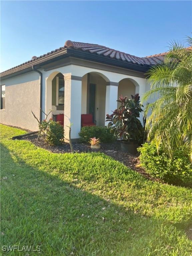
[[[131,95],[141,93],[139,83],[131,77],[121,76],[115,82],[111,80],[106,74],[97,71],[90,71],[83,76],[59,71],[49,75],[46,79],[45,110],[48,113],[52,109],[49,118],[62,114],[66,139],[70,125],[71,138],[78,139],[82,114],[91,114],[97,126],[105,126],[106,114],[111,114],[117,108],[120,95],[131,98]]]

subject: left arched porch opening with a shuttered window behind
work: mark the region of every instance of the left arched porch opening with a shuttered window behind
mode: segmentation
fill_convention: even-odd
[[[64,114],[64,76],[60,72],[53,72],[46,80],[46,113],[52,110],[53,115]]]

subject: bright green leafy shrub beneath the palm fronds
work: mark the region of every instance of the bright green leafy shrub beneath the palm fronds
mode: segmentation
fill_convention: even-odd
[[[159,155],[154,142],[138,148],[142,167],[152,177],[160,178],[174,185],[192,187],[192,164],[185,146],[174,151],[170,159],[160,148]]]

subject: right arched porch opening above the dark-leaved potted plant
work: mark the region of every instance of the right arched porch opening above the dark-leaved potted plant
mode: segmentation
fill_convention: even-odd
[[[119,86],[118,86],[118,97],[119,96],[127,96],[128,99],[131,99],[131,95],[135,95],[135,93],[137,92],[137,84],[135,85],[135,83],[133,81],[131,81],[129,78],[125,78],[122,79],[119,82]],[[120,102],[118,102],[117,106],[120,105]]]

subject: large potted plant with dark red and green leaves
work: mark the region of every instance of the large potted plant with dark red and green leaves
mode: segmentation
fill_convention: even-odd
[[[138,119],[143,111],[140,103],[139,94],[131,95],[132,99],[119,97],[118,102],[121,105],[113,111],[111,115],[107,114],[106,121],[109,121],[108,128],[111,133],[121,138],[121,149],[130,154],[137,153],[139,141],[142,140],[143,126]]]

